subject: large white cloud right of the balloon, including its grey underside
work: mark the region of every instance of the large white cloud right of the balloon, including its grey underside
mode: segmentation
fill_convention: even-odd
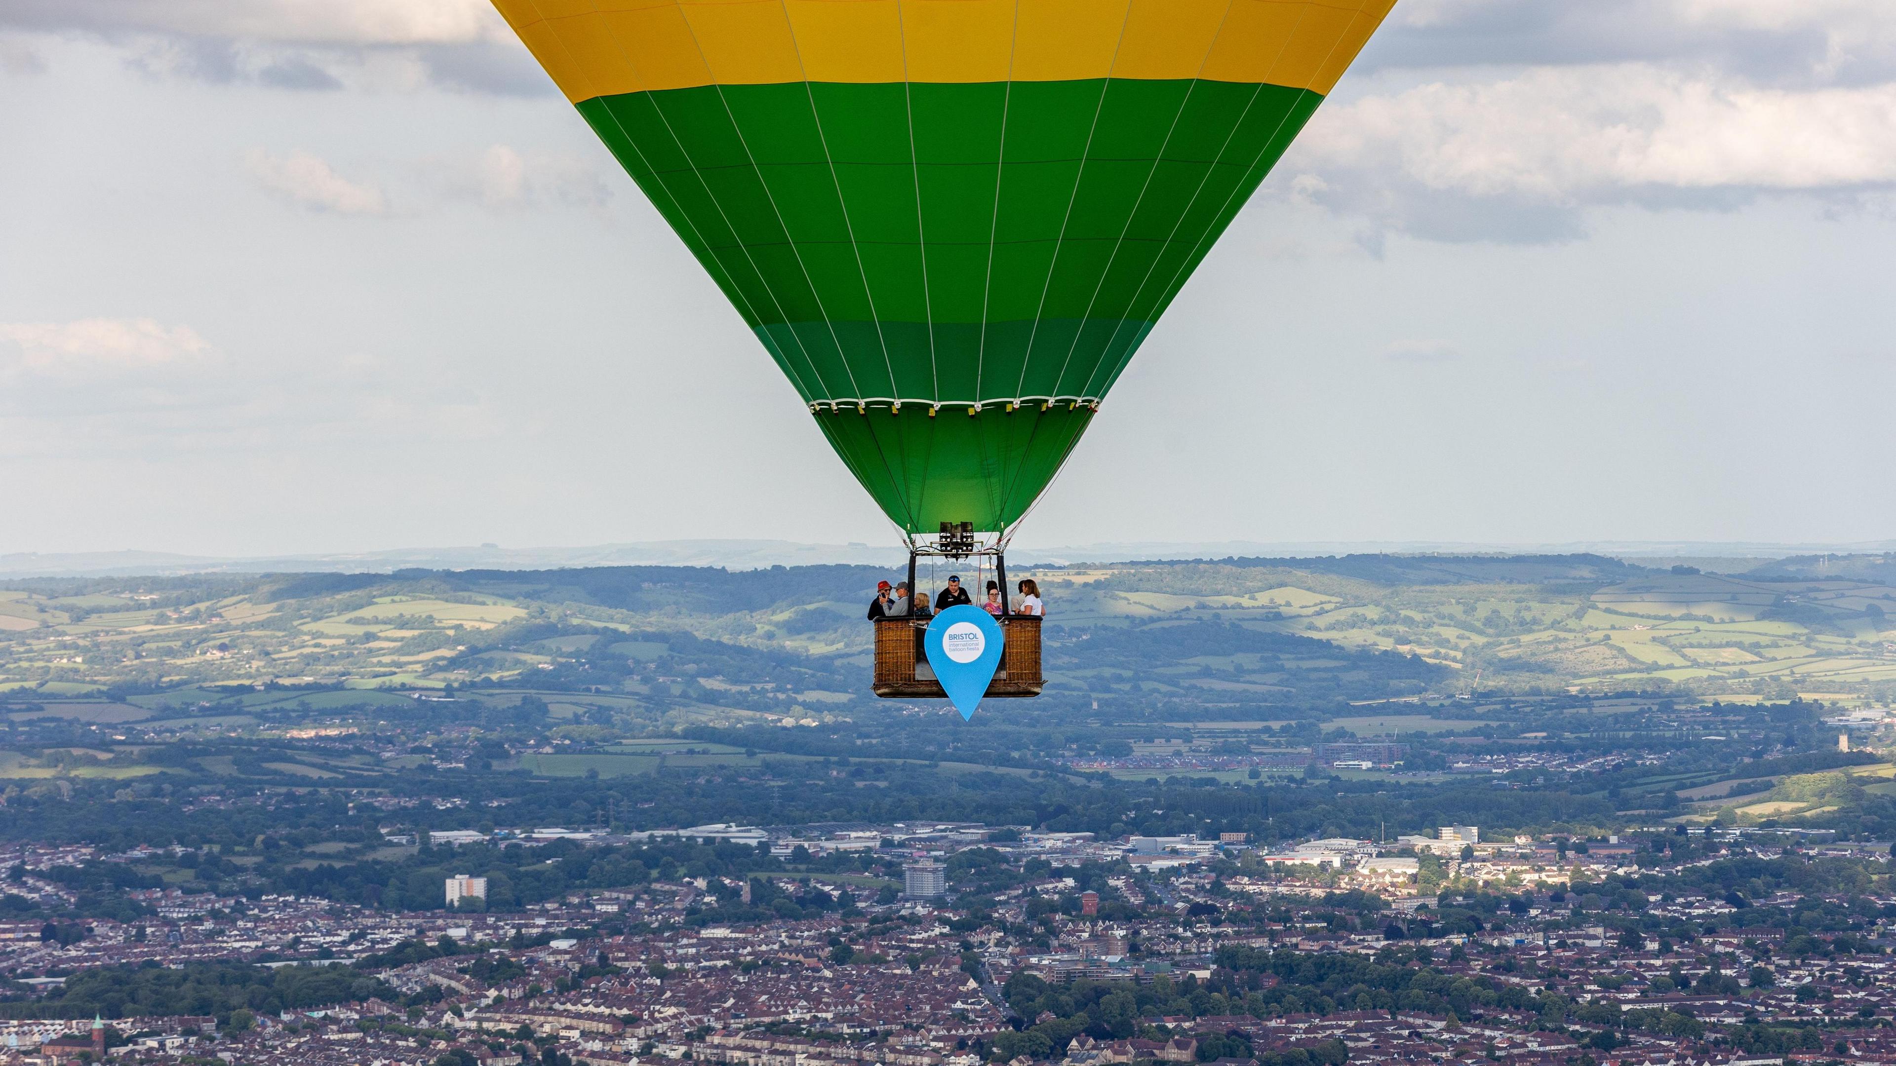
[[[1458,70],[1322,108],[1267,195],[1441,241],[1570,241],[1606,205],[1896,190],[1896,83],[1763,87],[1650,63]]]

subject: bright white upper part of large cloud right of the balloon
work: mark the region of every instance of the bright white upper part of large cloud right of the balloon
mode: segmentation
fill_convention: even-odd
[[[1299,163],[1547,203],[1650,186],[1881,184],[1896,180],[1896,85],[1786,91],[1644,64],[1538,68],[1344,104],[1304,133]]]

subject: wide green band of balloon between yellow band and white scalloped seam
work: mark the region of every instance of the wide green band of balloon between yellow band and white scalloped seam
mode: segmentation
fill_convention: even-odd
[[[1318,101],[787,83],[580,112],[806,400],[997,400],[1103,393]]]

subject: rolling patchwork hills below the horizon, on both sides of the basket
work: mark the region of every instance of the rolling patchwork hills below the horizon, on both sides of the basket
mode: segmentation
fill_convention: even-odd
[[[1896,569],[1881,556],[1741,575],[1600,556],[1026,573],[1050,607],[1054,694],[1202,709],[1562,690],[1896,696],[1896,584],[1883,582]],[[865,700],[861,611],[878,577],[597,567],[17,580],[0,586],[0,694],[61,700],[61,713],[102,723],[447,689],[573,692],[578,717],[611,708],[652,725],[823,721]]]

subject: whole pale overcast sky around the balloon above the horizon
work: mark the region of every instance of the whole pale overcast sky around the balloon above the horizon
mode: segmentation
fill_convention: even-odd
[[[1896,535],[1888,0],[1401,0],[1022,542]],[[485,0],[0,4],[0,552],[891,542]]]

